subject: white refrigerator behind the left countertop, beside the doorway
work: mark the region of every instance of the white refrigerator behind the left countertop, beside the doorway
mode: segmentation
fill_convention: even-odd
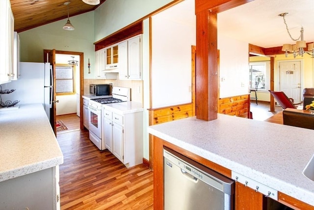
[[[2,94],[2,102],[19,100],[20,102],[15,106],[42,103],[50,120],[53,90],[52,67],[50,63],[20,62],[20,74],[21,76],[18,80],[0,85],[2,90],[15,89],[15,91],[9,94]]]

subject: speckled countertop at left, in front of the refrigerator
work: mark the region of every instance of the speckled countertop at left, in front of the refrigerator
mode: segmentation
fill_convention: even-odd
[[[0,181],[63,163],[42,104],[0,112]]]

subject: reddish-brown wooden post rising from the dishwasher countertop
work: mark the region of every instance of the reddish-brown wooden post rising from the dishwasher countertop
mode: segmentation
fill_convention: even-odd
[[[217,119],[217,13],[196,14],[196,118]]]

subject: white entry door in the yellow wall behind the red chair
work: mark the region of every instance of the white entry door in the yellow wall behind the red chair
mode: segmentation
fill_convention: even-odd
[[[279,62],[279,89],[295,102],[301,101],[301,61]]]

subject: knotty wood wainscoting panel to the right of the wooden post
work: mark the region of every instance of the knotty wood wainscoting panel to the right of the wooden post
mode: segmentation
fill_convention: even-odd
[[[250,118],[250,95],[237,95],[219,98],[218,113]]]

